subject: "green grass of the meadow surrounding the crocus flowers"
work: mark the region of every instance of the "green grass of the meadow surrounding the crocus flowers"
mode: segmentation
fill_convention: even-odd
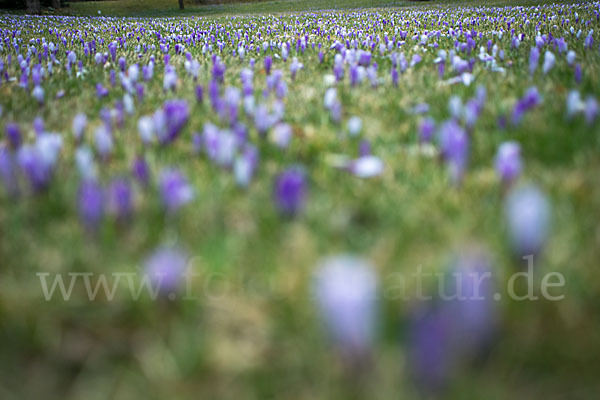
[[[101,9],[103,15],[180,15],[176,2],[172,3],[171,6],[171,2],[161,2],[159,7],[158,2],[153,2],[151,9],[149,4],[145,6],[146,10],[125,1],[73,3],[62,12],[95,15]],[[255,18],[261,18],[259,24],[275,20],[294,23],[304,18],[304,14],[255,17],[254,13],[389,4],[392,3],[311,0],[189,6],[186,15],[208,17],[104,21],[118,26],[139,23],[163,31],[180,22],[184,30],[193,26],[201,29],[212,23],[229,29],[243,27]],[[490,4],[507,3],[499,0]],[[432,7],[439,7],[441,12],[454,10],[452,5],[433,3],[394,5],[402,8],[369,12],[408,20],[417,15],[411,12]],[[62,133],[65,143],[47,192],[14,200],[0,191],[0,398],[418,398],[407,377],[410,366],[403,340],[411,304],[394,299],[381,301],[375,362],[364,380],[355,382],[345,375],[326,340],[310,298],[315,264],[324,256],[350,252],[370,259],[382,279],[397,272],[410,276],[419,265],[430,270],[444,269],[453,252],[474,243],[489,249],[498,280],[505,283],[516,265],[506,240],[504,191],[495,175],[493,158],[499,144],[507,140],[521,143],[525,164],[521,182],[536,183],[551,199],[553,228],[536,268],[540,273],[558,271],[565,276],[566,299],[554,303],[500,302],[504,318],[493,350],[480,365],[460,374],[447,397],[597,398],[600,127],[598,122],[587,126],[581,116],[568,121],[565,102],[567,93],[574,88],[583,96],[600,98],[600,55],[596,50],[600,26],[590,10],[580,7],[578,12],[582,19],[592,19],[590,28],[596,32],[594,50],[585,50],[582,40],[573,39],[561,29],[548,25],[541,29],[568,39],[569,48],[577,53],[582,65],[583,81],[579,86],[575,85],[572,68],[564,56],[557,55],[556,66],[548,75],[542,75],[539,69],[534,76],[529,75],[529,49],[536,34],[533,24],[523,28],[527,37],[518,49],[510,48],[509,35],[500,40],[494,38],[506,51],[502,63],[506,75],[478,63],[473,71],[475,81],[469,87],[440,84],[433,64],[436,52],[423,52],[411,43],[402,48],[407,59],[419,51],[423,61],[400,77],[398,87],[391,85],[389,58],[376,51],[374,60],[383,79],[377,88],[367,82],[351,88],[346,71],[346,79],[338,85],[342,125],[334,124],[323,108],[327,89],[324,76],[331,74],[334,58],[333,51],[327,49],[337,37],[332,34],[330,40],[314,39],[325,49],[323,64],[318,63],[316,51],[308,49],[297,54],[292,49],[290,56],[298,56],[304,64],[297,78],[291,80],[289,62],[275,59],[274,69],[283,71],[288,84],[284,120],[292,125],[294,139],[289,149],[280,151],[260,140],[254,128],[250,129],[261,161],[247,190],[236,186],[229,171],[193,154],[194,132],[201,131],[208,121],[219,126],[224,123],[208,101],[195,101],[196,83],[185,73],[184,57],[175,56],[173,51],[171,63],[177,69],[179,82],[175,93],[163,91],[163,61],[157,50],[155,76],[146,83],[145,100],[136,101],[134,114],[116,132],[112,158],[99,162],[100,180],[106,183],[128,174],[135,156],[145,152],[155,177],[161,168],[175,165],[189,177],[197,198],[176,217],[167,217],[156,185],[146,190],[136,186],[131,223],[122,225],[107,217],[95,235],[85,232],[77,214],[79,176],[74,168],[76,144],[70,127],[73,116],[85,112],[90,122],[85,142],[94,146],[93,131],[101,123],[100,110],[113,107],[123,98],[122,88],[109,84],[109,71],[115,65],[97,66],[93,56],[84,58],[81,47],[74,45],[78,59],[84,60],[87,69],[85,79],[69,76],[62,66],[56,66],[55,74],[44,81],[48,100],[41,107],[18,86],[18,81],[3,82],[0,126],[17,121],[27,141],[32,141],[32,121],[42,116],[47,129]],[[471,11],[464,13],[471,15]],[[531,18],[537,18],[534,11],[529,13]],[[13,29],[10,18],[0,16],[0,27]],[[323,18],[340,18],[347,25],[360,21],[360,15],[341,11],[324,14]],[[87,17],[44,23],[66,33],[88,30],[90,37],[102,38],[105,44],[122,35],[116,30],[92,35],[91,29],[101,22]],[[578,27],[587,33],[588,28],[581,25]],[[40,31],[21,26],[22,43],[40,37],[57,41],[48,33],[48,26]],[[311,28],[316,26],[314,21],[310,23]],[[486,24],[478,29],[488,35],[495,28]],[[385,34],[393,35],[393,28],[387,26],[375,32]],[[151,33],[144,40],[158,46]],[[79,43],[78,39],[74,43]],[[126,50],[119,49],[119,56],[126,57],[128,64],[145,65],[149,54],[138,58],[136,44],[131,38]],[[441,38],[439,45],[450,49],[454,41]],[[201,62],[198,83],[206,86],[210,56],[202,53],[200,45],[186,47]],[[106,51],[105,46],[99,45],[99,49]],[[8,51],[16,57],[14,51],[5,47],[5,52],[0,52],[3,60]],[[61,52],[60,60],[64,58]],[[222,58],[227,65],[226,86],[239,86],[240,71],[247,67],[250,56],[242,62],[226,51]],[[14,63],[9,72],[17,79],[20,76]],[[262,99],[265,79],[262,56],[257,57],[257,100]],[[107,98],[96,97],[97,82],[109,87]],[[478,85],[487,89],[487,102],[472,134],[468,173],[461,187],[453,187],[437,159],[416,151],[420,117],[409,110],[427,102],[429,114],[442,121],[448,118],[451,96],[466,101]],[[498,128],[498,117],[510,113],[517,99],[534,85],[544,97],[543,104],[529,112],[520,126]],[[61,90],[65,92],[63,98],[50,100]],[[137,134],[137,120],[153,113],[169,98],[187,100],[191,118],[175,143],[144,150]],[[268,101],[272,101],[272,95]],[[362,138],[371,142],[373,153],[385,162],[385,172],[378,178],[360,180],[330,164],[332,155],[357,154],[359,139],[345,134],[345,122],[352,115],[363,119]],[[252,127],[251,119],[244,116],[242,120]],[[308,204],[298,218],[283,219],[272,205],[272,184],[279,172],[295,164],[302,165],[309,178]],[[199,300],[153,302],[143,298],[135,302],[122,287],[113,302],[89,302],[80,285],[71,301],[54,298],[46,302],[35,276],[39,271],[137,272],[144,257],[162,243],[177,243],[194,257],[193,268],[201,274],[194,280]],[[219,281],[224,289],[215,283],[209,287],[214,295],[206,296],[206,282]],[[387,284],[382,282],[384,287]],[[219,296],[221,289],[225,294]]]

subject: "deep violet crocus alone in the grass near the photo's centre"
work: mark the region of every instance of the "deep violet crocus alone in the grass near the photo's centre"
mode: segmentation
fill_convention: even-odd
[[[306,191],[304,172],[297,167],[286,169],[275,179],[275,207],[284,216],[299,214],[306,203]]]

